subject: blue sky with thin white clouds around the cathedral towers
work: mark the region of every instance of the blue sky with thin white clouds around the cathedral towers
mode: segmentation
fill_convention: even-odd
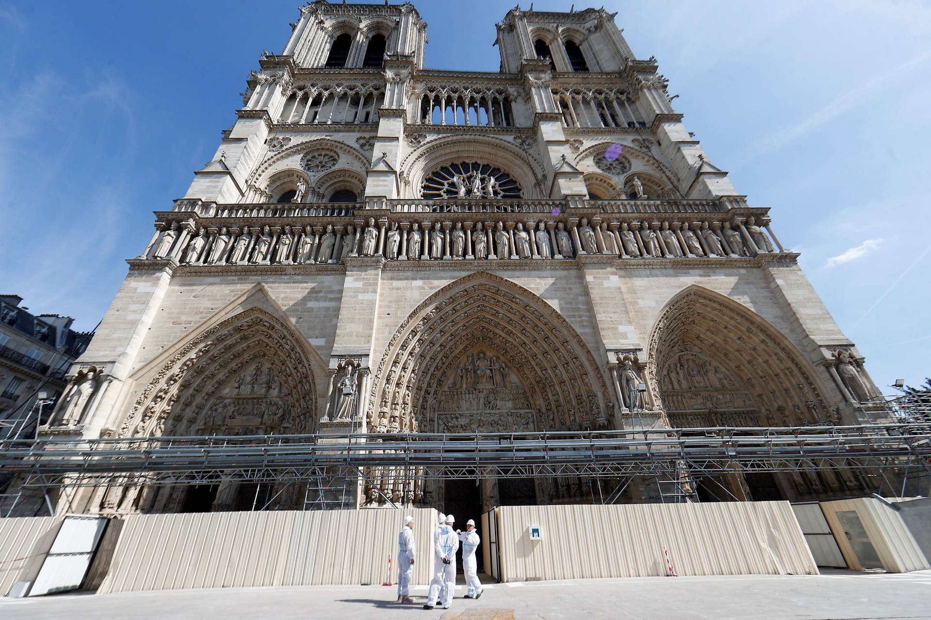
[[[297,6],[0,0],[0,293],[93,328],[152,211],[213,155]],[[709,160],[772,209],[876,383],[931,375],[931,4],[604,6],[634,53],[659,61]],[[416,7],[427,66],[497,71],[494,22],[509,3]]]

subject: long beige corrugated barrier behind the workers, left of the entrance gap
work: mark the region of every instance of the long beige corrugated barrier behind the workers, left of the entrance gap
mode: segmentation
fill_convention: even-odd
[[[98,592],[382,584],[408,514],[417,543],[412,584],[428,584],[433,508],[218,512],[128,517]]]

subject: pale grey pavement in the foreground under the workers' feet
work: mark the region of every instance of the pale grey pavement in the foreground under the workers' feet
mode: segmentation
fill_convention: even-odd
[[[421,609],[426,586],[412,592],[414,605],[393,602],[384,586],[299,586],[62,594],[0,599],[4,620],[121,620],[171,618],[617,618],[621,620],[867,620],[931,619],[931,571],[872,574],[831,571],[822,575],[743,575],[579,579],[493,584],[479,600],[463,599],[449,610]],[[511,615],[513,613],[513,615]]]

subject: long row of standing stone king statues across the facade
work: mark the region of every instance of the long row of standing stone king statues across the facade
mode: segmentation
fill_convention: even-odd
[[[749,217],[731,222],[385,222],[272,227],[193,227],[178,222],[145,258],[187,264],[340,263],[347,256],[388,260],[562,259],[582,254],[629,258],[752,256],[773,252]]]

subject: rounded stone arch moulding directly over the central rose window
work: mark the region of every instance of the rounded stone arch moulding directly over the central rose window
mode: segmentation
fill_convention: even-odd
[[[456,161],[477,161],[505,170],[524,189],[524,198],[534,197],[536,180],[543,177],[543,168],[533,155],[523,153],[513,142],[493,136],[451,136],[431,140],[407,155],[399,168],[403,177],[411,179],[415,187],[420,187],[426,174]]]

